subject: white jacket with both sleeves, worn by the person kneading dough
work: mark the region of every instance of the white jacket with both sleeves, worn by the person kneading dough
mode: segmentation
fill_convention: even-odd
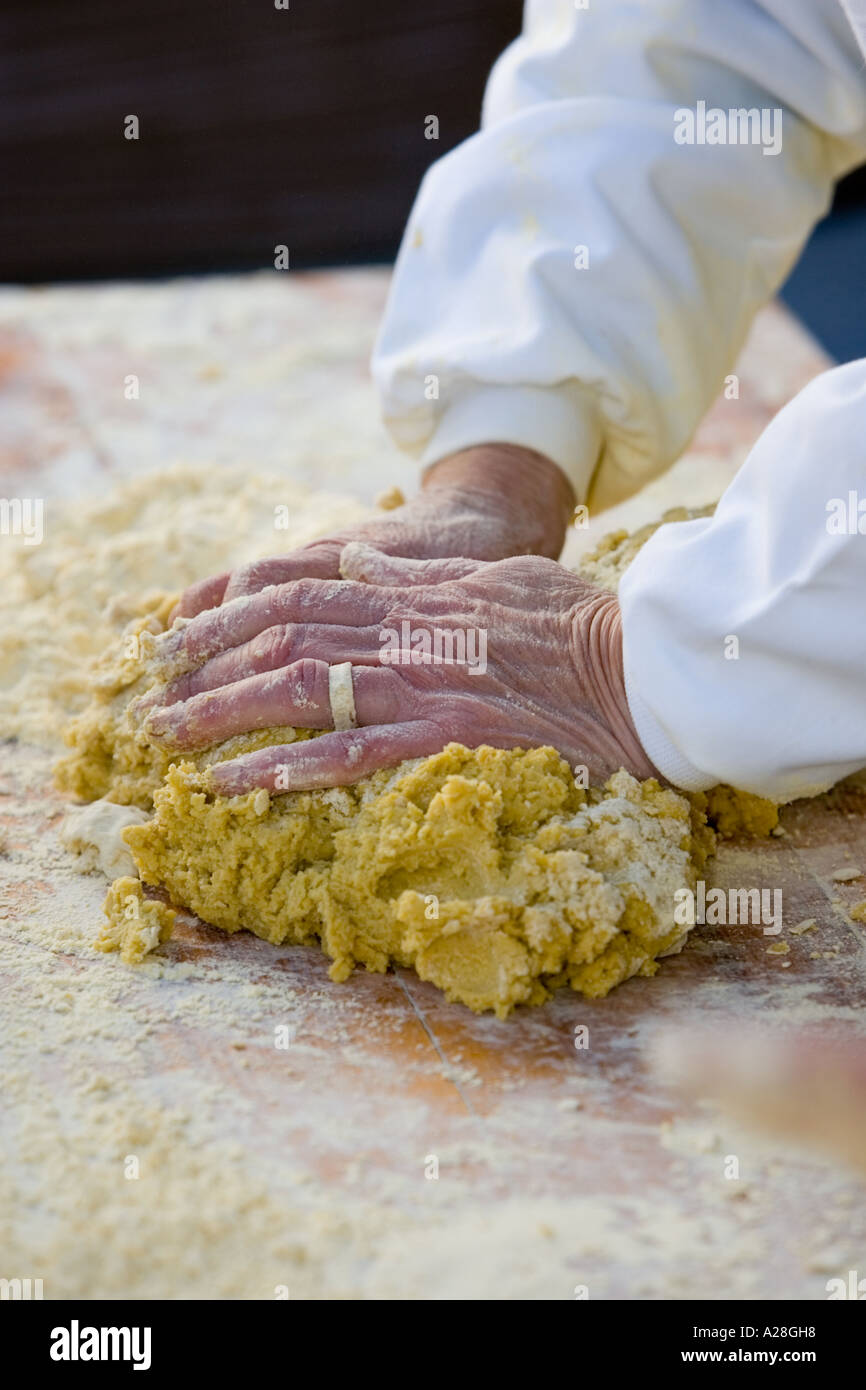
[[[373,360],[398,443],[537,449],[592,509],[667,468],[866,160],[865,54],[866,0],[528,0],[398,256]],[[866,766],[858,486],[866,532],[866,360],[632,563],[628,703],[676,785],[784,801]]]

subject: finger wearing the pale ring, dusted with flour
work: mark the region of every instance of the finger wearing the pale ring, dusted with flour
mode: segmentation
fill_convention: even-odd
[[[193,695],[182,705],[153,710],[145,721],[145,731],[161,748],[190,751],[279,724],[332,728],[328,670],[327,662],[307,659],[279,671]],[[388,667],[357,666],[353,687],[360,724],[391,723],[413,714],[420,703],[400,676]]]

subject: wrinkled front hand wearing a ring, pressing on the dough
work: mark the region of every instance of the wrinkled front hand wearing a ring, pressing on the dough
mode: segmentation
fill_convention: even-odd
[[[332,728],[328,666],[352,662],[359,728],[218,764],[217,790],[342,785],[452,739],[552,744],[592,780],[620,766],[656,774],[628,714],[612,594],[538,556],[400,560],[353,543],[341,567],[343,580],[281,584],[171,632],[163,659],[188,673],[147,714],[149,737],[193,751],[275,724]],[[411,646],[399,664],[382,660],[403,624],[413,641],[463,632],[485,662],[414,664]]]

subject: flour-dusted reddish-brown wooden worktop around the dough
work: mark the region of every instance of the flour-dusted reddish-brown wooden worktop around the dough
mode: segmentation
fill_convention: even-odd
[[[386,284],[366,270],[0,291],[6,495],[93,496],[178,460],[364,500],[411,486],[367,368]],[[714,499],[824,366],[767,309],[738,399],[567,557]],[[95,956],[82,942],[104,881],[71,873],[44,756],[3,745],[0,790],[15,1083],[0,1237],[17,1265],[33,1258],[1,1276],[42,1276],[46,1297],[272,1298],[285,1283],[302,1298],[824,1298],[828,1277],[865,1268],[856,1175],[685,1102],[649,1063],[671,1023],[863,1037],[866,933],[845,910],[863,883],[831,880],[866,870],[863,794],[795,805],[784,835],[726,844],[712,865],[713,883],[783,888],[787,954],[759,927],[702,927],[653,980],[605,1001],[560,991],[500,1023],[410,972],[331,984],[313,948],[190,920],[164,967]],[[129,1154],[136,1182],[120,1176]]]

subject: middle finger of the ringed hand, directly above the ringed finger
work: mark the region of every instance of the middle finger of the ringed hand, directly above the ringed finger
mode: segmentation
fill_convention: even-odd
[[[271,627],[252,642],[220,652],[197,670],[179,676],[149,699],[143,709],[177,705],[203,691],[234,685],[235,681],[277,671],[304,657],[321,662],[352,662],[353,666],[379,663],[382,641],[378,627],[325,627],[320,623]]]

